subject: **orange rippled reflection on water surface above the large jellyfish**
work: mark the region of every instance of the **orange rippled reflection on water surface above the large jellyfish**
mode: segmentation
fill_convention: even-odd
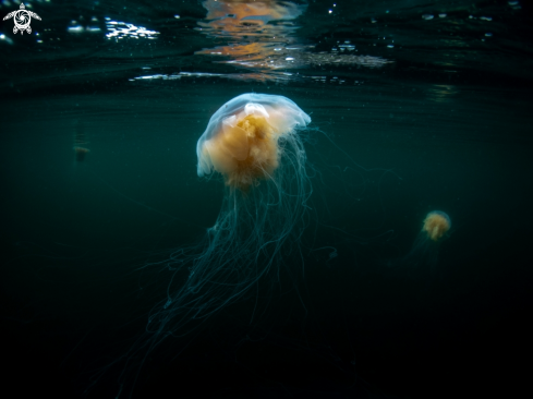
[[[254,70],[255,78],[272,80],[279,76],[271,70],[305,69],[324,65],[358,65],[381,68],[393,61],[380,57],[356,55],[350,41],[329,51],[315,51],[315,44],[298,37],[300,26],[295,20],[303,16],[307,5],[290,1],[207,0],[205,21],[196,31],[227,43],[215,48],[196,51],[196,55],[223,59],[230,63]]]

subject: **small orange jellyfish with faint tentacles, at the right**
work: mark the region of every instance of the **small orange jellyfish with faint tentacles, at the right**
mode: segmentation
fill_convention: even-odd
[[[402,262],[411,273],[411,277],[420,279],[433,275],[438,262],[440,243],[447,237],[450,227],[451,220],[444,211],[432,210],[426,215],[422,230]]]

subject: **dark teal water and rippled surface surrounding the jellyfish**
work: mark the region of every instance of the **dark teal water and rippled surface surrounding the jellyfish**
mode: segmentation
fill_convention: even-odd
[[[20,4],[1,1],[2,19]],[[5,392],[439,398],[526,386],[531,3],[24,4],[40,17],[31,33],[0,25]],[[271,270],[261,295],[131,353],[172,277],[147,265],[217,219],[223,182],[197,177],[196,142],[244,93],[286,96],[313,120],[301,133],[313,184],[303,269]],[[451,219],[437,262],[403,268],[436,209]]]

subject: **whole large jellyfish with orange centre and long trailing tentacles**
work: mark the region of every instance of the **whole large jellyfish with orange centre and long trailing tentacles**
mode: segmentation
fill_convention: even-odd
[[[201,243],[162,263],[173,275],[149,318],[153,343],[243,297],[265,300],[271,287],[262,292],[259,279],[298,268],[312,191],[300,131],[310,122],[289,98],[266,94],[243,94],[213,114],[197,142],[197,174],[221,174],[221,209]]]

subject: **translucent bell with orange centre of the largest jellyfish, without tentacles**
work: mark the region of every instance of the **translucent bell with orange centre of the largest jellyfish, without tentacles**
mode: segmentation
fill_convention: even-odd
[[[280,138],[294,140],[295,128],[310,122],[311,118],[287,97],[255,93],[238,96],[215,112],[199,137],[197,173],[203,177],[215,170],[227,185],[246,191],[278,169]]]

